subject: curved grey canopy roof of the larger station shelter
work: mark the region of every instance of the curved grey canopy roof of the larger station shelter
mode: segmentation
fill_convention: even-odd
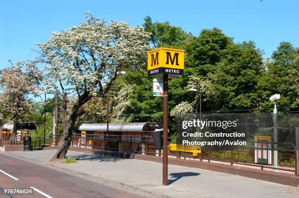
[[[109,131],[115,132],[145,132],[154,131],[157,123],[109,123]],[[81,131],[107,131],[107,123],[85,123],[79,127]]]

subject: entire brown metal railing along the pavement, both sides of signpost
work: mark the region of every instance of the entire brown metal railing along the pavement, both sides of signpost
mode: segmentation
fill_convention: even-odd
[[[54,144],[53,136],[32,140],[35,148]],[[56,136],[58,141],[60,136]],[[169,144],[176,143],[177,138],[169,137]],[[227,162],[231,165],[278,169],[296,172],[296,147],[292,143],[245,141],[246,146],[202,146],[200,152],[173,151],[168,148],[168,154],[177,158],[197,159],[199,161]],[[275,149],[274,145],[278,145]],[[105,149],[119,152],[138,153],[143,155],[161,156],[162,151],[156,150],[151,136],[134,135],[97,135],[73,134],[71,146]],[[274,151],[278,153],[278,165],[274,165]]]

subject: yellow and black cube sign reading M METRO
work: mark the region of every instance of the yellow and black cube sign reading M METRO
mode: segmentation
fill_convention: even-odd
[[[148,52],[148,75],[170,78],[184,74],[184,50],[158,48]]]

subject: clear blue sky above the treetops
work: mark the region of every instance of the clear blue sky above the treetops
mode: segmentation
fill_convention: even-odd
[[[218,27],[235,42],[255,41],[264,57],[281,41],[299,47],[299,0],[0,0],[0,68],[34,59],[36,42],[84,21],[87,10],[131,25],[150,15],[196,36]]]

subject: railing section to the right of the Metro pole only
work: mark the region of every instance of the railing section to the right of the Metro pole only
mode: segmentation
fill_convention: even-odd
[[[177,138],[170,138],[174,143]],[[186,139],[186,138],[184,138]],[[296,146],[292,143],[268,141],[244,141],[246,146],[202,146],[201,152],[193,156],[192,152],[169,151],[169,155],[176,157],[228,162],[231,165],[243,164],[249,166],[286,170],[296,172]],[[277,145],[277,149],[274,148]],[[274,152],[278,153],[278,164],[274,164]]]

